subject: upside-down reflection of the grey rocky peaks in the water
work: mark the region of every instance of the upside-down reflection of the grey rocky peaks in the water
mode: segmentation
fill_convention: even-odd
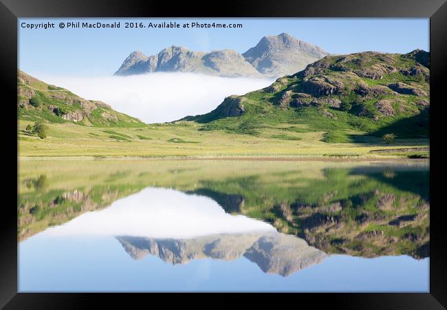
[[[235,260],[242,256],[256,263],[265,273],[290,276],[322,262],[327,255],[305,240],[280,233],[220,234],[193,239],[154,239],[116,237],[135,260],[151,254],[173,265],[200,258]]]

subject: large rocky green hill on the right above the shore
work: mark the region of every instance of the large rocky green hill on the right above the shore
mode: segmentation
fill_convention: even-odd
[[[360,136],[353,134],[360,133],[426,138],[429,59],[423,50],[325,56],[269,87],[228,96],[215,110],[180,121],[252,135],[281,125],[285,132],[326,132],[324,142],[355,142]]]

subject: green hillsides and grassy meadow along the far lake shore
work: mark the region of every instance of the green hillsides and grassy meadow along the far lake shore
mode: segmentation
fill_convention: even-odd
[[[151,125],[19,72],[19,155],[428,157],[428,57],[327,56],[208,114]],[[26,131],[39,119],[45,139]]]

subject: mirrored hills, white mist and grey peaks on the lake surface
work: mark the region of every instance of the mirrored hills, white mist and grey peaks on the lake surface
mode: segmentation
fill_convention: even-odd
[[[135,260],[245,258],[281,276],[329,254],[419,260],[428,173],[424,162],[23,161],[19,240],[114,236]]]

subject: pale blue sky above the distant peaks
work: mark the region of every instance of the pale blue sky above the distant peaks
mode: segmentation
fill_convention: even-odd
[[[67,21],[120,21],[121,28],[58,28]],[[242,23],[238,29],[124,28],[125,21],[160,23]],[[30,30],[21,23],[55,23],[54,29]],[[333,54],[374,50],[406,53],[429,48],[428,19],[20,19],[19,68],[39,74],[104,76],[113,74],[133,50],[156,54],[171,45],[191,50],[246,52],[261,37],[287,32]]]

